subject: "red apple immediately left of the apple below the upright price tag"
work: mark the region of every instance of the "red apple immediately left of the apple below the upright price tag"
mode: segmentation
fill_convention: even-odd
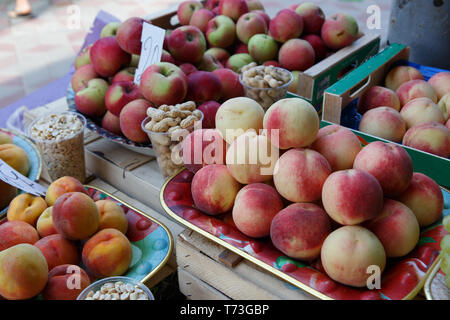
[[[105,96],[106,108],[115,116],[120,115],[128,102],[143,98],[139,87],[132,81],[119,81],[113,83]]]

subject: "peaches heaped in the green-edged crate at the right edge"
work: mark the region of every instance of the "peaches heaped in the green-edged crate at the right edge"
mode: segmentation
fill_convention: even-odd
[[[416,68],[397,66],[384,84],[369,88],[359,99],[359,130],[449,158],[450,72],[425,81]]]

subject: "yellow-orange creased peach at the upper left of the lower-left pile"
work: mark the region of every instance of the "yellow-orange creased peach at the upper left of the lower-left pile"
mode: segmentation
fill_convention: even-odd
[[[19,220],[35,226],[45,209],[47,209],[47,203],[43,198],[22,193],[9,204],[7,217],[9,221]]]

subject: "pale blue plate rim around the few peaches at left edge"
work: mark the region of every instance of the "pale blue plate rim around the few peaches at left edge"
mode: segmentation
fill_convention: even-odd
[[[19,146],[25,150],[28,155],[28,159],[30,159],[30,172],[28,173],[28,178],[33,181],[38,181],[42,171],[42,159],[36,145],[30,139],[19,133],[3,128],[0,128],[0,132],[9,135],[13,139],[13,143],[16,146]],[[8,207],[0,208],[0,218],[6,214],[7,209]]]

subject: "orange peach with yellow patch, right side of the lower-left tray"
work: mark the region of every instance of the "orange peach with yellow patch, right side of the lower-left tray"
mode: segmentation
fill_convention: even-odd
[[[82,258],[95,277],[120,276],[131,264],[131,243],[122,232],[103,229],[85,243]]]

